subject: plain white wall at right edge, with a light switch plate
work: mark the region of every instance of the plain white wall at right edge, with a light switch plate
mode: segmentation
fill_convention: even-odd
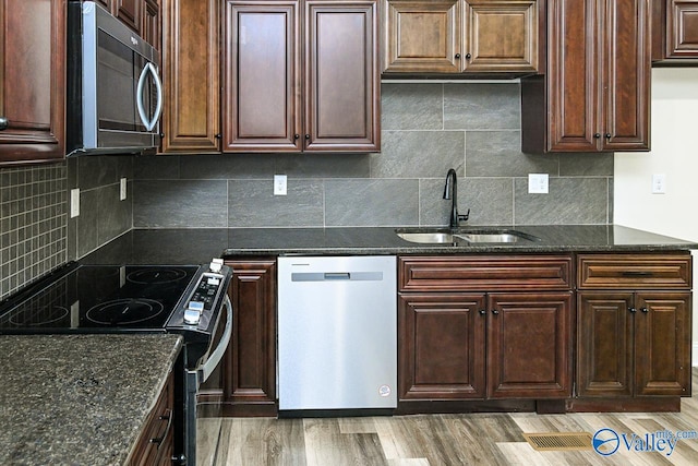
[[[698,69],[653,69],[649,153],[616,153],[614,223],[698,242]],[[652,194],[652,174],[666,193]],[[694,251],[694,287],[698,251]],[[694,356],[698,366],[698,299]]]

